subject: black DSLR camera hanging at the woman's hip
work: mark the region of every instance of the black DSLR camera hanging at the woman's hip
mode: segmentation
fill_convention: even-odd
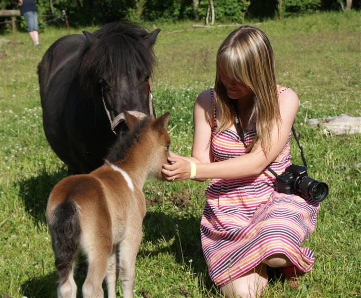
[[[288,166],[284,173],[276,178],[276,190],[286,194],[300,194],[305,199],[323,201],[328,195],[328,185],[307,176],[304,166]]]

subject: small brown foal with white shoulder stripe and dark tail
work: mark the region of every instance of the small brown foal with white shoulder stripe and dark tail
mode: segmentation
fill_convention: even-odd
[[[169,113],[139,120],[125,113],[129,132],[110,150],[105,164],[87,175],[62,179],[52,190],[47,221],[60,281],[58,297],[76,297],[73,278],[79,248],[87,256],[83,297],[116,297],[117,253],[124,298],[133,297],[135,258],[145,215],[143,184],[163,179],[169,156]]]

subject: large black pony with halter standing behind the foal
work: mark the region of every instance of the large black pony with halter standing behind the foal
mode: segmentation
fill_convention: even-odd
[[[103,164],[127,129],[124,111],[154,115],[149,77],[159,29],[112,23],[57,40],[38,65],[43,126],[69,174]]]

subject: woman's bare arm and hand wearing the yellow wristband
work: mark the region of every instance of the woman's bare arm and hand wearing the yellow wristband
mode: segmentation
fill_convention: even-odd
[[[271,145],[265,155],[261,146],[257,145],[245,155],[231,158],[217,163],[197,164],[197,179],[235,179],[260,174],[284,148],[289,137],[292,124],[297,114],[299,99],[288,89],[279,95],[281,124],[276,123],[272,128]],[[175,176],[177,180],[188,179],[190,176],[189,163],[179,158],[170,158],[172,165],[164,167],[164,174],[168,177]]]

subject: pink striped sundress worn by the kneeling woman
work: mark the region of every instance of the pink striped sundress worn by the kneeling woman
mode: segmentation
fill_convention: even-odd
[[[215,106],[212,89],[211,97]],[[216,128],[214,109],[211,150],[215,161],[246,154],[245,145],[256,133],[244,131],[244,145],[234,130],[217,133]],[[270,167],[281,174],[291,164],[290,158],[289,138]],[[300,246],[314,230],[319,204],[276,192],[274,180],[265,169],[256,176],[213,179],[208,184],[201,240],[209,275],[218,286],[241,277],[274,253],[287,255],[301,272],[312,268],[313,252]]]

